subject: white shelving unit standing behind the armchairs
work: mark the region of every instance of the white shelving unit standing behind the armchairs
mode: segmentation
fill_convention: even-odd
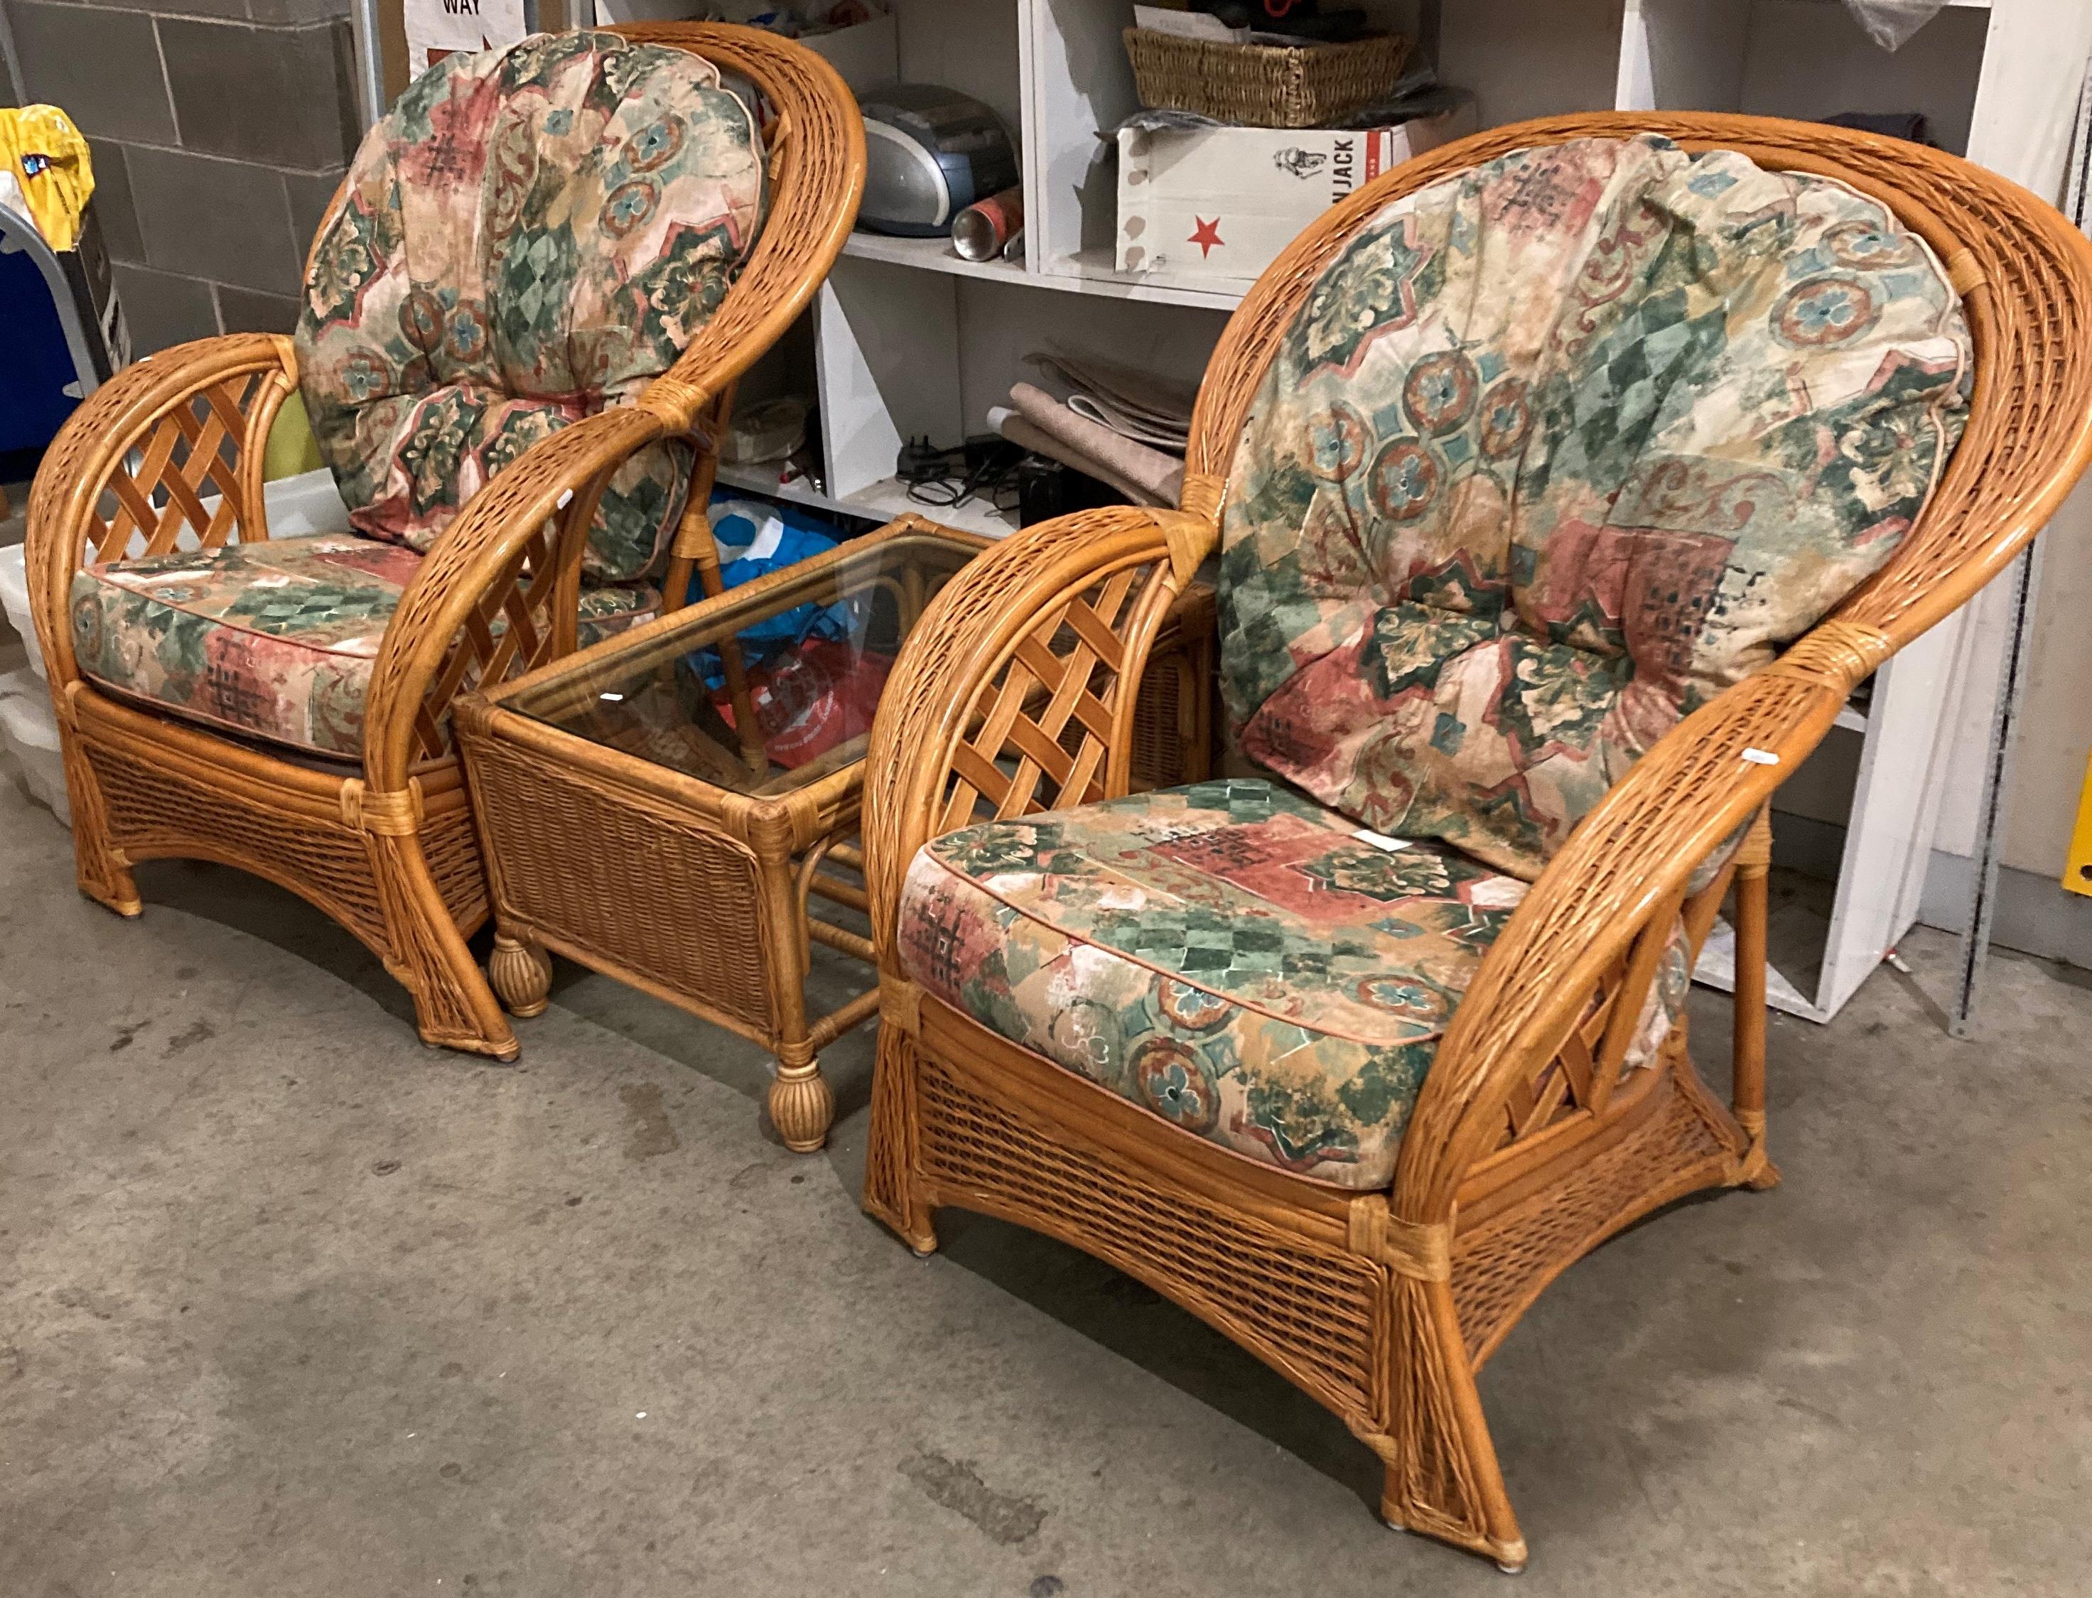
[[[676,0],[632,2],[659,15]],[[1364,4],[1385,27],[1435,40],[1441,82],[1475,92],[1483,125],[1605,107],[1923,111],[1935,142],[2036,192],[2061,184],[2092,31],[2092,0],[1954,0],[1893,54],[1837,0]],[[856,234],[810,335],[747,385],[751,397],[818,393],[822,492],[770,473],[722,477],[828,510],[916,508],[1000,533],[1010,521],[987,506],[908,500],[893,481],[902,439],[952,446],[983,431],[990,406],[1029,374],[1023,358],[1048,347],[1195,381],[1241,295],[1111,268],[1115,180],[1098,134],[1136,109],[1119,42],[1132,0],[893,0],[893,13],[895,75],[985,100],[1019,138],[1025,259],[973,264],[943,241]],[[1914,924],[1960,688],[1994,648],[1979,632],[1956,617],[1897,657],[1868,709],[1841,715],[1826,751],[1782,789],[1782,805],[1845,832],[1822,954],[1770,973],[1776,1006],[1826,1021]],[[1715,941],[1701,977],[1732,985],[1726,960]]]

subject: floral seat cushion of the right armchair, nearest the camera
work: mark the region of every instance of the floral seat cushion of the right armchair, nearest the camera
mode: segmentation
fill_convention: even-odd
[[[1385,1188],[1446,1023],[1525,883],[1261,780],[950,832],[900,956],[946,1004],[1222,1148]],[[1684,1002],[1674,937],[1630,1069]]]

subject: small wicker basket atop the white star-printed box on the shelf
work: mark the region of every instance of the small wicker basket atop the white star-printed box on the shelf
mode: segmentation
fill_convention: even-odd
[[[1140,105],[1197,111],[1249,128],[1326,128],[1393,90],[1410,42],[1374,33],[1354,44],[1222,44],[1151,27],[1125,29]]]

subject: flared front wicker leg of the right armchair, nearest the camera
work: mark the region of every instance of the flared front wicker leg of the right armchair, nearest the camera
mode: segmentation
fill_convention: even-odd
[[[1525,1537],[1496,1464],[1452,1286],[1393,1276],[1389,1293],[1393,1429],[1383,1443],[1381,1516],[1397,1531],[1485,1554],[1502,1571],[1523,1571]]]

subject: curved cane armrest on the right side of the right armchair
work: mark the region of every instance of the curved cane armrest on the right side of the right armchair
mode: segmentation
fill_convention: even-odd
[[[1556,1058],[1600,981],[1659,914],[1669,922],[1692,872],[1764,807],[1830,730],[1854,682],[1887,657],[1881,634],[1839,623],[1818,634],[1828,636],[1812,634],[1672,728],[1540,874],[1425,1077],[1395,1167],[1397,1215],[1450,1219],[1462,1178],[1504,1136],[1513,1092]],[[1644,991],[1632,994],[1636,1006]]]

